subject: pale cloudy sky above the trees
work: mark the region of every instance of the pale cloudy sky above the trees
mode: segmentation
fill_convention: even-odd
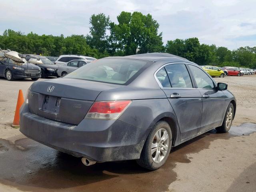
[[[86,35],[92,14],[104,13],[117,22],[121,11],[139,11],[158,21],[164,44],[198,37],[201,43],[231,50],[256,46],[256,0],[2,0],[0,5],[0,34],[10,28]]]

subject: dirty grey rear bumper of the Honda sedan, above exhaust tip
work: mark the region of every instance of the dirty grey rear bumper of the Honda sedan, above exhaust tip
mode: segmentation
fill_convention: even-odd
[[[149,129],[120,120],[84,119],[77,126],[20,109],[20,132],[46,146],[98,162],[139,159]]]

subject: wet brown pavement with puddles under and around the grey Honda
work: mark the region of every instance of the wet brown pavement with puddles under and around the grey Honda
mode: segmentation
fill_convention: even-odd
[[[232,126],[229,133],[209,131],[172,149],[162,168],[148,171],[135,161],[84,166],[76,158],[29,138],[14,144],[0,139],[0,183],[22,191],[154,191],[160,192],[177,178],[177,162],[190,163],[187,154],[207,149],[216,139],[228,140],[256,132],[256,124]],[[244,137],[246,140],[246,137]]]

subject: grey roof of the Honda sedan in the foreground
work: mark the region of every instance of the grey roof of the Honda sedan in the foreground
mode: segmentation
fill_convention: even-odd
[[[145,53],[145,54],[137,54],[137,55],[129,55],[129,56],[117,56],[117,57],[107,57],[107,58],[127,58],[127,59],[138,59],[138,60],[146,60],[156,62],[159,60],[170,59],[170,60],[180,60],[183,62],[190,62],[186,58],[176,56],[169,53]],[[193,62],[191,62],[193,63]]]

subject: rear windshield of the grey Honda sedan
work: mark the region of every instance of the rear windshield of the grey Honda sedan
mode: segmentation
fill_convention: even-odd
[[[64,76],[112,84],[126,84],[132,77],[138,76],[147,62],[132,59],[100,59]]]

